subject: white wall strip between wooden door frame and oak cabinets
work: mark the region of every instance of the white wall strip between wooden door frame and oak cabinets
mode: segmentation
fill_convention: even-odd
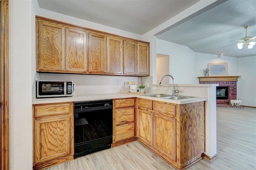
[[[35,66],[30,0],[9,0],[10,169],[32,168],[32,78]]]

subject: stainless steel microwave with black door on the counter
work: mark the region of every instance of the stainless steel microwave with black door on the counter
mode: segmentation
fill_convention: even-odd
[[[73,96],[72,80],[36,80],[36,98]]]

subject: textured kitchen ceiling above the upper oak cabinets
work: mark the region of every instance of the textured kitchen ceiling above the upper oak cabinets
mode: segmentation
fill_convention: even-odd
[[[38,0],[40,8],[143,35],[200,0]]]

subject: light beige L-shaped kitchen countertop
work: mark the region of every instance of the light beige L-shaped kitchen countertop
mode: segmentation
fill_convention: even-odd
[[[62,97],[62,98],[38,98],[38,99],[33,99],[32,104],[82,102],[82,101],[119,99],[119,98],[135,98],[135,97],[149,99],[149,100],[157,100],[157,101],[161,101],[161,102],[168,102],[168,103],[173,103],[173,104],[188,104],[188,103],[202,102],[202,101],[207,100],[207,98],[200,98],[200,97],[172,100],[172,99],[143,96],[141,94],[114,93],[114,94],[88,94],[88,95]]]

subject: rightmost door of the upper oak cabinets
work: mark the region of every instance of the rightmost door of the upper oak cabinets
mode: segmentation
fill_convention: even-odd
[[[138,43],[137,74],[149,75],[149,47],[148,44]]]

